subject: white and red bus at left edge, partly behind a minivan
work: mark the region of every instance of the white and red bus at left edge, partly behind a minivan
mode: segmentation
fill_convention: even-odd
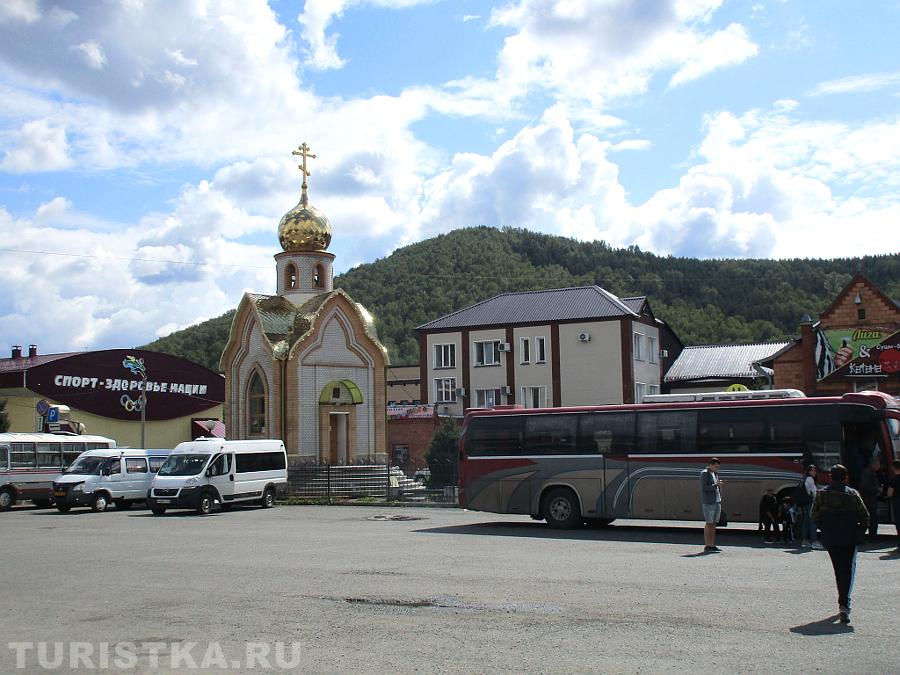
[[[52,503],[52,485],[63,469],[85,450],[114,448],[104,436],[74,434],[0,434],[0,511],[20,500]]]

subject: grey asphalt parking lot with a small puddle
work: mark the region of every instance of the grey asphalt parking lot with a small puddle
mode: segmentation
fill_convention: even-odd
[[[402,519],[397,519],[397,518]],[[883,526],[887,531],[892,526]],[[0,672],[895,672],[900,557],[459,509],[0,514]]]

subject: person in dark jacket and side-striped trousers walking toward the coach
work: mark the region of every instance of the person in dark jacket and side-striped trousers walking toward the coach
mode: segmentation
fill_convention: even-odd
[[[856,547],[869,523],[869,512],[859,493],[847,485],[846,467],[831,467],[831,485],[816,494],[812,515],[822,530],[822,541],[834,568],[841,623],[850,623]]]

